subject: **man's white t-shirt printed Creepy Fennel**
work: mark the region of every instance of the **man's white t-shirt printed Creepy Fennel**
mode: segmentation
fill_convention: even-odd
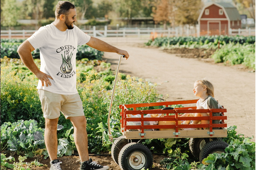
[[[42,86],[39,80],[37,89],[58,94],[76,94],[76,50],[77,45],[90,41],[90,36],[74,25],[73,29],[60,31],[52,24],[42,26],[31,37],[30,44],[40,50],[40,70],[50,75],[51,86]]]

